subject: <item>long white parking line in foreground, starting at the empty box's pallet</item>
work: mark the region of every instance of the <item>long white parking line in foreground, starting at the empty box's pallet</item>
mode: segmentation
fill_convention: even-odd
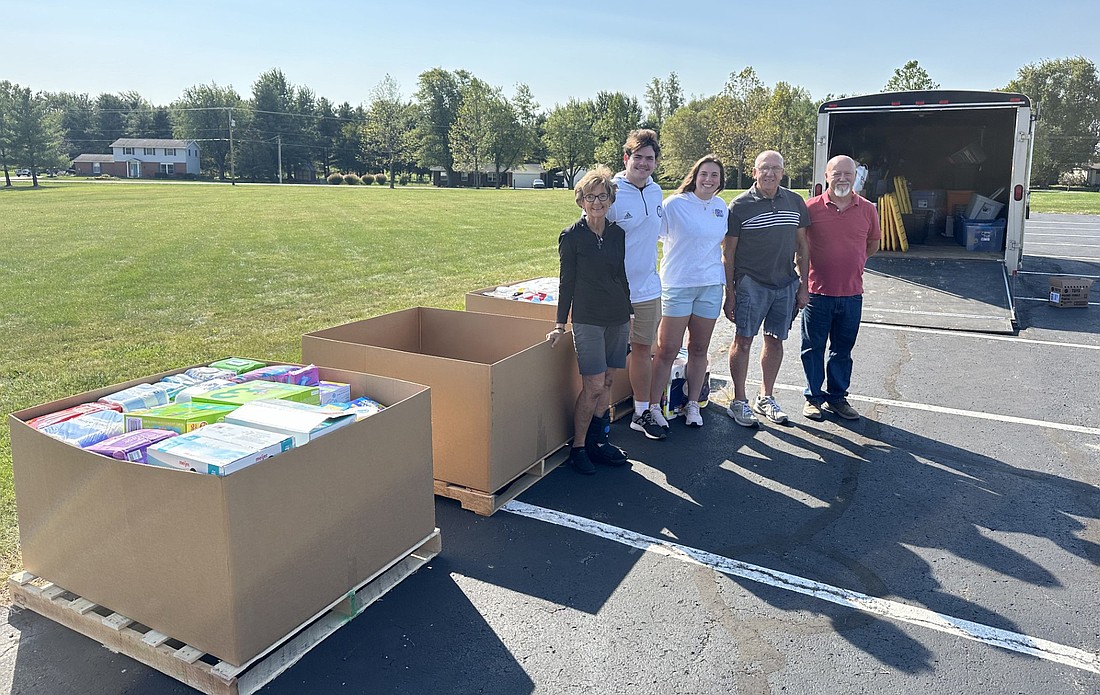
[[[593,521],[584,517],[578,517],[544,507],[536,507],[521,501],[509,501],[504,507],[505,511],[537,519],[547,523],[553,523],[564,528],[591,533],[600,538],[637,548],[647,552],[652,552],[668,558],[674,558],[682,562],[711,567],[716,572],[730,576],[741,577],[750,582],[759,582],[776,588],[781,588],[805,596],[813,596],[822,600],[846,606],[864,613],[882,616],[891,620],[916,625],[939,632],[955,635],[976,642],[983,642],[993,647],[1000,647],[1021,654],[1037,657],[1055,663],[1065,664],[1082,671],[1100,673],[1100,654],[1066,647],[1035,637],[1028,637],[1020,632],[1010,632],[1000,628],[990,627],[971,620],[955,618],[942,613],[935,613],[927,608],[920,608],[909,604],[902,604],[886,598],[877,598],[848,591],[839,586],[815,582],[794,574],[769,570],[760,565],[749,564],[739,560],[724,558],[705,550],[681,545],[671,541],[635,533],[627,529],[622,529],[608,523]]]

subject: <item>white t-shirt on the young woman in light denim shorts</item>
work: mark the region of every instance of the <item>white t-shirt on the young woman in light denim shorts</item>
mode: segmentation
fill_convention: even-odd
[[[664,199],[661,219],[661,284],[664,287],[725,285],[722,241],[726,238],[726,202],[701,200],[693,192]]]

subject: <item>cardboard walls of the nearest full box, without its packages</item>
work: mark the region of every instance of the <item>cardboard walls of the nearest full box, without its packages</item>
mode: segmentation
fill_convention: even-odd
[[[226,477],[116,461],[26,424],[167,373],[12,413],[24,567],[230,663],[261,654],[435,530],[429,389],[321,373],[388,407]]]

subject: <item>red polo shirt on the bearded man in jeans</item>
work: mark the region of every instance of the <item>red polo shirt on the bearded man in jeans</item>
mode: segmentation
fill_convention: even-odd
[[[867,242],[882,238],[879,212],[867,198],[851,194],[839,209],[824,192],[806,202],[810,209],[810,291],[829,297],[864,294]]]

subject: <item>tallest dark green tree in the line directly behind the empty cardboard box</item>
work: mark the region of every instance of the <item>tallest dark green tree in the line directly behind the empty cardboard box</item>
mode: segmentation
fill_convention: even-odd
[[[454,185],[454,153],[451,150],[451,126],[462,104],[464,71],[450,73],[441,67],[420,74],[416,92],[420,143],[419,161],[424,166],[441,166],[447,170],[447,185]]]

